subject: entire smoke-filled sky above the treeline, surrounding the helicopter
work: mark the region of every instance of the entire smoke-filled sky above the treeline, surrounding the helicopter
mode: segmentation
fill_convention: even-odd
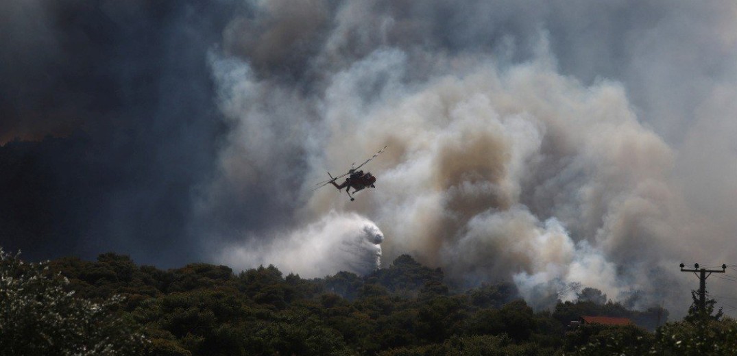
[[[0,246],[29,259],[409,253],[674,315],[678,263],[737,265],[734,1],[5,1],[0,48]],[[311,191],[386,145],[375,190]]]

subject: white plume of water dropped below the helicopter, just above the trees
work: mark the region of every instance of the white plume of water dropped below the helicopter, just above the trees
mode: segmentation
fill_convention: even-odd
[[[307,278],[335,271],[368,274],[380,267],[383,240],[379,227],[367,218],[331,212],[296,231],[227,250],[221,260],[234,268],[273,264],[284,273]]]

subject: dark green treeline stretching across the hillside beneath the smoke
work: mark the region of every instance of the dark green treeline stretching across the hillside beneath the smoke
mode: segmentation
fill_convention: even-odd
[[[17,281],[36,268],[46,280],[57,279],[65,293],[74,291],[69,298],[102,306],[116,324],[95,321],[99,330],[133,335],[105,335],[105,340],[120,338],[122,349],[136,349],[131,343],[139,342],[136,355],[688,355],[690,341],[699,355],[708,354],[706,344],[737,352],[737,329],[730,320],[708,321],[721,330],[712,335],[705,330],[715,330],[713,325],[699,329],[706,324],[687,322],[653,333],[645,328],[654,329],[658,318],[665,321],[666,310],[628,310],[604,302],[601,292],[590,288],[581,291],[586,301],[559,302],[536,313],[509,282],[455,291],[444,284],[439,268],[408,255],[368,276],[340,272],[309,280],[284,276],[274,266],[234,274],[227,266],[195,263],[164,271],[136,266],[119,254],[102,254],[97,262],[65,257],[46,269],[18,264],[7,254],[3,258],[4,276]],[[0,310],[12,298],[0,293]],[[567,331],[582,315],[624,316],[642,327]],[[8,332],[0,325],[0,346]],[[13,347],[22,348],[22,339],[33,335],[16,332],[21,342]],[[46,350],[44,355],[67,354]]]

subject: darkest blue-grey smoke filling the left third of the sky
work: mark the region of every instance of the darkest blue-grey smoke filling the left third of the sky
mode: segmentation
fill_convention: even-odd
[[[192,197],[226,127],[207,51],[235,4],[0,4],[0,244],[38,259],[202,258]]]

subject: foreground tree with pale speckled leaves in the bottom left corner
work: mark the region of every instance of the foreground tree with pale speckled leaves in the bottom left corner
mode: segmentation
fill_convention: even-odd
[[[113,296],[90,302],[45,263],[0,249],[0,355],[141,355],[147,339],[113,310]]]

